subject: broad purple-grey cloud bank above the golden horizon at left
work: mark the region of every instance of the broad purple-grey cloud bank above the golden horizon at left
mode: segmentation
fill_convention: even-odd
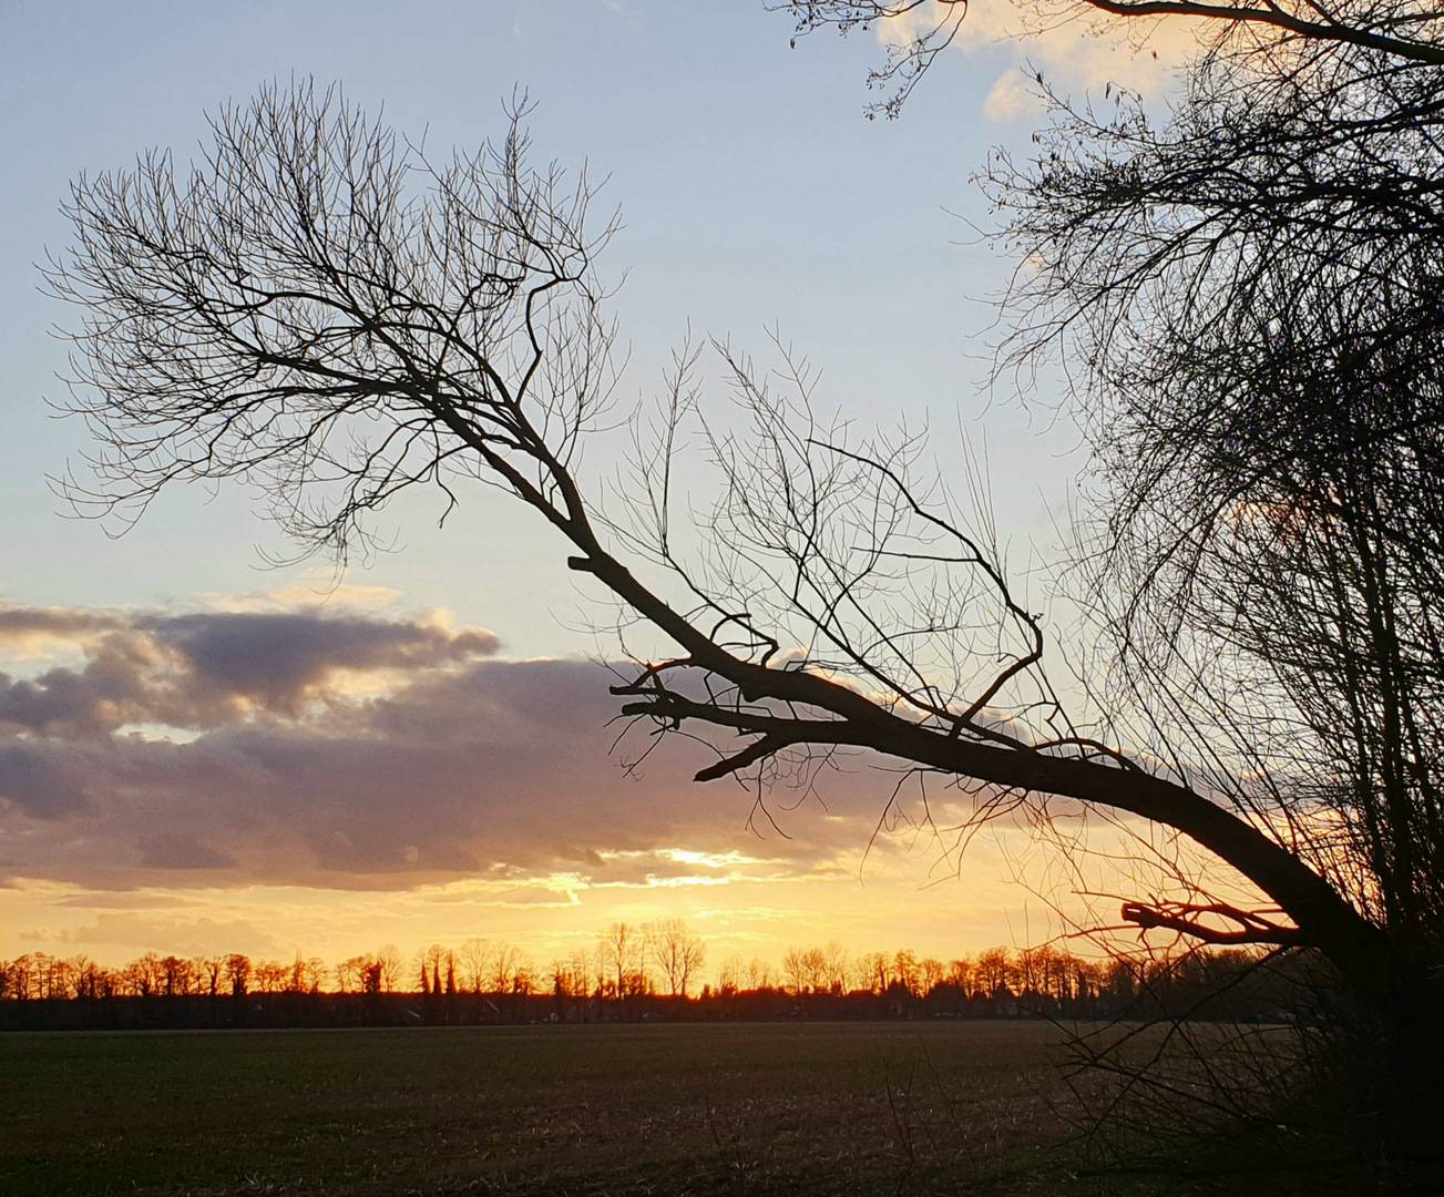
[[[827,780],[832,817],[697,785],[710,757],[647,729],[614,749],[615,676],[505,661],[497,637],[374,612],[4,612],[81,660],[0,679],[0,855],[16,878],[111,889],[485,879],[726,885],[835,872],[892,777]],[[367,684],[352,684],[355,679]],[[186,736],[150,734],[191,728]],[[183,741],[183,742],[178,742]],[[755,820],[765,827],[767,820]],[[527,898],[529,901],[531,898]]]

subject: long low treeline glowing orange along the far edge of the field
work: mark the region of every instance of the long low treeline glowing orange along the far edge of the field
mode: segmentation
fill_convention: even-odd
[[[614,923],[591,947],[537,967],[472,939],[404,957],[394,946],[336,965],[244,954],[146,953],[118,969],[85,956],[0,960],[0,1030],[282,1027],[781,1018],[1271,1019],[1295,1002],[1297,967],[1240,950],[1086,960],[995,947],[939,960],[790,949],[774,967],[726,957],[702,983],[706,946],[683,920]]]

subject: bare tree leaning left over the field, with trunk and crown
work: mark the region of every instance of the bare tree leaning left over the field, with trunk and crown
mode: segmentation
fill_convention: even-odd
[[[1317,949],[1411,1034],[1421,1009],[1438,1009],[1425,962],[1310,858],[1297,822],[1233,801],[1186,757],[1131,754],[1108,726],[1070,718],[986,510],[969,513],[926,475],[918,436],[822,419],[813,375],[786,352],[767,373],[715,345],[735,426],[702,410],[699,355],[679,352],[654,417],[632,425],[621,494],[611,507],[589,497],[579,449],[606,413],[614,336],[593,257],[611,225],[586,232],[585,178],[527,167],[516,118],[500,147],[442,165],[309,85],[263,91],[212,129],[189,175],[153,153],[74,186],[77,241],[49,283],[82,312],[69,410],[100,449],[92,481],[69,484],[78,504],[124,520],[170,482],[235,478],[302,543],[344,556],[401,489],[435,485],[449,505],[465,482],[490,482],[556,530],[573,570],[671,641],[638,656],[614,692],[643,726],[716,745],[699,781],[745,778],[761,803],[768,784],[807,785],[862,749],[918,784],[963,784],[979,819],[1045,826],[1057,800],[1135,816],[1194,840],[1258,901],[1142,894],[1123,904],[1126,923]],[[1050,169],[1017,189],[1057,193],[1071,176]],[[1412,195],[1422,191],[1404,202]],[[1027,211],[1043,215],[1019,235],[1051,228],[1043,206]],[[1063,228],[1077,240],[1044,258],[1041,297],[1126,328],[1108,323],[1108,303],[1131,302],[1108,271],[1154,243],[1108,240],[1121,227]],[[1184,253],[1190,230],[1213,227],[1193,221],[1161,244]],[[1095,273],[1060,273],[1076,245]],[[1142,280],[1135,296],[1148,277],[1167,270],[1125,274]],[[1048,279],[1071,289],[1047,292]],[[716,500],[686,556],[671,479],[689,427]],[[621,989],[619,963],[617,976]]]

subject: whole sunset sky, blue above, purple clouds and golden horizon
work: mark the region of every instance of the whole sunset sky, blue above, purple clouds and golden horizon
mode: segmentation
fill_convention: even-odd
[[[915,820],[875,835],[884,762],[774,794],[771,819],[734,781],[690,783],[695,747],[628,768],[645,745],[614,745],[605,618],[495,494],[443,527],[433,498],[397,504],[393,549],[338,578],[271,565],[293,546],[243,488],[178,488],[116,537],[49,482],[87,449],[46,403],[74,313],[36,269],[68,243],[72,179],[156,146],[183,159],[206,113],[270,81],[338,81],[443,149],[500,136],[523,90],[537,157],[585,163],[619,211],[601,269],[621,393],[654,393],[689,331],[764,352],[774,329],[822,370],[825,406],[927,423],[944,474],[962,436],[982,446],[1009,559],[1047,556],[1082,456],[1047,394],[989,388],[1014,263],[973,176],[991,146],[1027,149],[1030,72],[1158,97],[1186,46],[1018,39],[1004,4],[975,9],[902,118],[869,121],[866,72],[901,32],[794,48],[758,0],[3,0],[0,957],[335,960],[488,937],[546,962],[674,914],[713,962],[1047,936],[1030,887],[1051,865],[1022,832],[962,858]],[[933,798],[943,826],[966,810]]]

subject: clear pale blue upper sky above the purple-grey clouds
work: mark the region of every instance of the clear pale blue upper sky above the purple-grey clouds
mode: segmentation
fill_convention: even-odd
[[[969,179],[1009,131],[982,114],[1006,48],[939,69],[905,120],[885,123],[862,118],[862,81],[882,56],[871,35],[790,49],[787,17],[754,0],[422,3],[404,17],[365,3],[9,4],[4,23],[0,560],[25,562],[0,578],[10,601],[170,604],[277,585],[251,546],[286,546],[240,494],[172,495],[116,544],[56,517],[45,475],[82,452],[85,432],[39,401],[61,393],[64,345],[48,331],[69,313],[38,293],[33,263],[65,244],[58,208],[79,172],[124,167],[150,146],[186,154],[206,111],[293,74],[341,81],[440,150],[497,134],[503,101],[527,90],[536,154],[588,163],[622,214],[604,273],[625,276],[628,396],[656,386],[690,321],[760,348],[775,326],[825,370],[825,401],[864,419],[928,413],[943,442],[983,406],[983,347],[969,335],[988,323],[1001,270],[986,244],[957,243],[976,241],[962,218],[986,221]],[[1038,489],[1057,497],[1048,453],[1066,439],[1043,445],[1025,423],[995,410],[988,436],[1006,479],[999,505],[1032,530]],[[443,537],[432,510],[397,517],[407,552],[365,580],[479,622],[546,593],[507,643],[575,651],[549,615],[570,614],[567,580],[530,528],[498,536],[485,507]],[[518,570],[526,586],[503,580]]]

